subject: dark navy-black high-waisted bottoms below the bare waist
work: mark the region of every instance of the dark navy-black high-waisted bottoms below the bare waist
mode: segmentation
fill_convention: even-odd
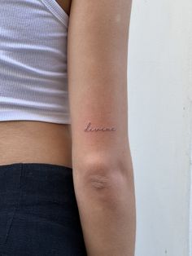
[[[87,255],[72,168],[0,166],[0,255]]]

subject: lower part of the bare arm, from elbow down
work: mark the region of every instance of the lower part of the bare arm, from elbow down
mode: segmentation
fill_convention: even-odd
[[[126,169],[127,168],[127,174]],[[111,172],[111,174],[110,174]],[[107,173],[109,175],[107,175]],[[76,179],[74,185],[88,256],[133,256],[136,210],[133,169],[124,165]]]

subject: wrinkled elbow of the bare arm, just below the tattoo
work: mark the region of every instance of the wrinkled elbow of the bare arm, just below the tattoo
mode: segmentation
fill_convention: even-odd
[[[94,192],[104,196],[114,196],[122,188],[128,188],[133,185],[133,170],[129,170],[129,165],[120,161],[103,161],[97,159],[86,161],[81,166],[81,171],[74,170],[74,183],[76,187],[85,192]],[[76,179],[78,174],[78,183]]]

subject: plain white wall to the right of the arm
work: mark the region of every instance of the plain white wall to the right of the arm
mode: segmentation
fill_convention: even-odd
[[[192,1],[133,0],[128,97],[136,256],[192,255],[191,88]]]

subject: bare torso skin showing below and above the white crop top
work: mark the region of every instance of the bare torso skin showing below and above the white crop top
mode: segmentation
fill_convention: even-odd
[[[66,13],[71,0],[57,0]],[[45,121],[0,121],[0,166],[48,163],[72,168],[71,126]]]

